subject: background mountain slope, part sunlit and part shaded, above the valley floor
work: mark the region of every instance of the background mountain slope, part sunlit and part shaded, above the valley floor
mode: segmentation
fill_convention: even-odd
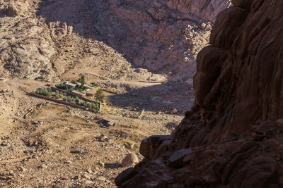
[[[192,78],[197,52],[208,43],[215,15],[230,4],[0,1],[0,76],[57,80],[82,58],[103,59],[101,49],[110,48],[107,54],[115,58],[104,61],[112,64],[125,64],[125,56],[136,67]]]

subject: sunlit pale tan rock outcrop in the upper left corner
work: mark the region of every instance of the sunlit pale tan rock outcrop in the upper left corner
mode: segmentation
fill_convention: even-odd
[[[33,16],[28,1],[12,3],[0,8],[1,13],[15,16],[0,22],[0,76],[52,80],[50,58],[56,51],[48,28],[37,18],[27,18]]]

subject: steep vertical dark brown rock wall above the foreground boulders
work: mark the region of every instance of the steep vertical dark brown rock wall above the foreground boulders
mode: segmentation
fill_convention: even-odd
[[[282,116],[282,61],[278,58],[282,29],[274,26],[279,8],[272,11],[273,4],[279,3],[233,2],[238,6],[219,13],[212,46],[197,58],[195,104],[210,131],[202,140],[196,135],[191,145],[248,134],[256,120],[276,121]]]

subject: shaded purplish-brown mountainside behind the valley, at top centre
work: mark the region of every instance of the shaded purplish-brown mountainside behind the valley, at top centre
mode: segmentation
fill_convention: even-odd
[[[87,6],[79,9],[86,18],[74,16],[74,4],[42,3],[39,13],[50,23],[52,36],[54,25],[65,23],[62,30],[70,27],[84,37],[102,40],[138,67],[192,78],[197,53],[209,42],[215,15],[231,1],[85,1]]]

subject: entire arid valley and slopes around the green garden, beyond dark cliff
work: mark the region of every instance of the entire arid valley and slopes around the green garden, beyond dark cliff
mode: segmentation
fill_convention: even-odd
[[[115,187],[143,160],[139,143],[171,134],[194,104],[197,53],[229,6],[0,0],[0,187]],[[103,89],[100,113],[30,94],[82,77]]]

